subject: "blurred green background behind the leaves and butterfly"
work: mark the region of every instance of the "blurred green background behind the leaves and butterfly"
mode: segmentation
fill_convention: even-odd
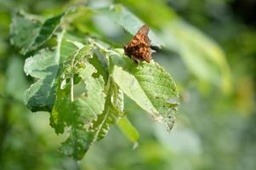
[[[178,84],[179,114],[168,133],[126,99],[139,147],[111,127],[76,162],[58,153],[63,139],[48,125],[48,113],[32,114],[23,104],[32,80],[23,73],[27,56],[10,46],[9,25],[20,8],[49,15],[72,4],[111,3],[122,3],[166,43],[153,58]],[[255,8],[253,0],[0,0],[0,169],[256,169]],[[106,17],[93,21],[119,48],[130,38]]]

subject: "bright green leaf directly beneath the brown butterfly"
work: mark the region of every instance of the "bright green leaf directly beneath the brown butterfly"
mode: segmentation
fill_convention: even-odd
[[[112,55],[114,81],[124,94],[133,99],[156,121],[165,122],[168,128],[174,124],[178,90],[172,77],[153,60],[139,65],[127,56]],[[172,105],[173,104],[173,105]]]

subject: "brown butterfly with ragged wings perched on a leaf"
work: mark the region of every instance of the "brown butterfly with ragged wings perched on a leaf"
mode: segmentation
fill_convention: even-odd
[[[135,34],[133,39],[124,45],[124,54],[128,55],[129,58],[134,59],[138,64],[139,61],[151,62],[151,40],[148,37],[150,31],[149,26],[141,26],[139,31]]]

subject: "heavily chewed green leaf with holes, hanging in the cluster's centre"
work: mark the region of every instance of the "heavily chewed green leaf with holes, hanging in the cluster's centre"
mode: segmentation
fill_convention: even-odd
[[[104,109],[103,78],[94,78],[92,76],[96,72],[94,66],[88,62],[85,62],[84,65],[84,68],[79,68],[74,72],[74,75],[77,74],[80,78],[80,82],[74,84],[73,88],[69,82],[71,76],[62,75],[63,78],[60,78],[51,114],[51,126],[55,128],[56,133],[64,133],[65,126],[71,125],[72,112],[76,112],[74,115],[84,116],[84,123],[90,123],[96,120]],[[71,93],[74,95],[74,101],[71,101]]]

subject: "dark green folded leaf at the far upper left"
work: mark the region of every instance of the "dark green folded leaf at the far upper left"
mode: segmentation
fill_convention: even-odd
[[[42,22],[35,16],[20,12],[15,14],[10,27],[11,43],[26,54],[43,45],[60,26],[63,14],[56,15]]]

